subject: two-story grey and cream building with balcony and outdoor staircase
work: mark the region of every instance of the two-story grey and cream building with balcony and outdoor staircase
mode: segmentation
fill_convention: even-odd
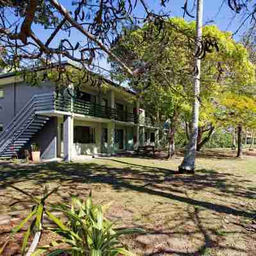
[[[39,145],[41,159],[67,161],[83,154],[111,156],[150,143],[157,147],[158,129],[135,93],[101,79],[104,90],[82,84],[72,95],[60,93],[50,81],[31,86],[15,73],[2,74],[0,157],[21,156],[32,143]]]

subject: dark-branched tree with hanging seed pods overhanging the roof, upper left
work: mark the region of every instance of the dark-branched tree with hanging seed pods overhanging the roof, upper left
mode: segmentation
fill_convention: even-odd
[[[144,63],[132,70],[111,51],[111,45],[118,42],[123,26],[141,26],[141,22],[154,23],[162,31],[167,12],[163,13],[168,0],[159,0],[162,14],[147,7],[144,0],[106,0],[72,1],[63,5],[58,0],[1,0],[0,1],[0,41],[6,51],[2,55],[4,65],[12,70],[33,68],[37,60],[45,62],[45,67],[63,59],[77,61],[82,67],[97,67],[102,72],[104,67],[97,65],[97,58],[102,54],[111,56],[130,76],[140,76],[152,65]],[[252,4],[228,1],[234,12],[255,12]],[[184,15],[190,15],[188,1],[184,0]],[[136,15],[140,9],[140,17]],[[142,10],[142,11],[141,11]],[[14,13],[13,15],[10,13]],[[40,29],[44,29],[44,33]],[[179,31],[180,34],[186,31]],[[58,34],[61,33],[61,36]],[[74,42],[72,35],[80,33],[81,42]],[[192,40],[193,38],[190,38]],[[207,49],[205,49],[207,51]],[[57,72],[65,72],[61,65]]]

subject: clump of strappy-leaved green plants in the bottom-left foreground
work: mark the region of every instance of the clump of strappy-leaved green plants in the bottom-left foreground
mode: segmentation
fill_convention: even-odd
[[[15,187],[13,187],[15,188]],[[19,191],[19,188],[15,188]],[[109,208],[111,203],[107,205],[95,205],[92,202],[92,195],[84,201],[76,196],[71,197],[70,204],[49,204],[46,206],[45,200],[54,193],[56,189],[45,194],[40,200],[36,200],[33,196],[22,191],[22,193],[29,196],[36,202],[33,206],[31,213],[15,228],[12,230],[12,237],[20,231],[28,221],[31,221],[28,230],[24,235],[22,244],[22,255],[26,252],[29,237],[32,230],[36,232],[49,229],[54,234],[58,234],[61,238],[52,241],[50,244],[36,248],[31,256],[38,255],[62,255],[62,253],[69,253],[72,256],[134,256],[122,246],[119,241],[120,236],[130,234],[143,234],[145,233],[140,228],[123,228],[114,230],[113,223],[104,217],[104,212]],[[60,211],[67,221],[63,222],[52,214],[52,210]],[[56,224],[54,228],[46,228],[44,226],[43,214]],[[6,243],[7,244],[7,243]],[[0,254],[3,252],[4,244]],[[61,246],[56,248],[57,246]]]

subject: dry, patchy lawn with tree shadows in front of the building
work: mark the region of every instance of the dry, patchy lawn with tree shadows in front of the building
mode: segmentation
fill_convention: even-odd
[[[124,237],[137,255],[256,255],[256,157],[234,159],[232,153],[206,151],[198,156],[196,174],[176,172],[182,161],[134,157],[92,159],[84,163],[0,163],[0,179],[40,195],[47,184],[61,185],[51,201],[69,195],[104,204],[113,200],[108,218],[116,227],[142,227],[147,234]],[[11,225],[0,226],[0,242],[19,222],[26,202],[19,192],[0,185],[0,214],[16,211]],[[16,255],[22,234],[6,255]],[[42,243],[52,237],[44,234]]]

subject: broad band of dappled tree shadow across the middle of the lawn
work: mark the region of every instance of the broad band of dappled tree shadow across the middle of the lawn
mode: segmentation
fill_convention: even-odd
[[[14,185],[30,181],[32,184],[42,187],[49,182],[56,183],[56,185],[65,182],[65,186],[73,189],[76,188],[74,187],[76,184],[108,184],[115,190],[129,189],[148,195],[161,196],[177,202],[204,207],[215,212],[246,218],[255,216],[255,212],[184,196],[186,190],[201,191],[205,188],[214,188],[226,196],[254,198],[256,196],[255,191],[245,189],[243,179],[235,182],[232,179],[232,173],[224,174],[214,170],[198,170],[200,174],[193,176],[173,175],[177,172],[164,168],[126,163],[115,159],[107,160],[124,163],[128,166],[115,168],[97,163],[51,163],[36,166],[2,164],[0,180]],[[6,188],[6,185],[2,184],[0,191],[4,188]],[[0,196],[4,195],[0,194]]]

